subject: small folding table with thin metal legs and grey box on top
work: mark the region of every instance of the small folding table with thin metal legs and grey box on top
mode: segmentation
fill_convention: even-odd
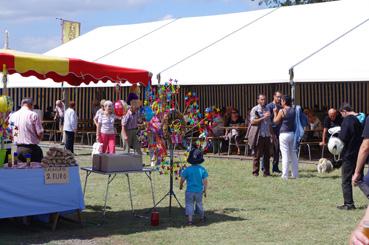
[[[106,204],[108,201],[109,185],[117,175],[125,175],[128,181],[129,200],[131,204],[131,211],[134,216],[136,215],[133,208],[132,190],[130,175],[144,173],[150,182],[151,195],[153,205],[155,205],[154,186],[152,182],[152,172],[157,171],[153,168],[144,168],[142,164],[142,156],[136,154],[95,154],[93,155],[93,166],[82,167],[81,170],[86,171],[86,178],[83,188],[83,195],[86,193],[86,186],[89,176],[94,174],[104,175],[107,177],[106,189],[104,196],[104,208],[103,217],[105,218]],[[138,216],[139,217],[139,216]]]

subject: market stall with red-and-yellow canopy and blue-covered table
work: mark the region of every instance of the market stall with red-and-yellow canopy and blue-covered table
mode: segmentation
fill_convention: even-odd
[[[54,149],[41,163],[31,163],[30,156],[26,164],[6,159],[12,156],[4,144],[12,137],[12,125],[8,125],[9,113],[13,110],[11,98],[7,96],[8,74],[35,76],[41,80],[50,78],[72,86],[108,81],[118,84],[129,81],[146,86],[152,74],[140,69],[8,49],[0,49],[0,73],[4,95],[0,97],[0,163],[3,164],[0,168],[0,218],[53,212],[57,221],[60,212],[83,209],[79,168],[69,153],[60,155],[61,152]],[[56,222],[53,228],[55,225]]]

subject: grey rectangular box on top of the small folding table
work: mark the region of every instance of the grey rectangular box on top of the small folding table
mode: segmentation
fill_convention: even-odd
[[[142,170],[142,156],[136,154],[103,154],[100,155],[103,172],[120,172]]]

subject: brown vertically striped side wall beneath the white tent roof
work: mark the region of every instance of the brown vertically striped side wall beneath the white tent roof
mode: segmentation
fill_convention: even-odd
[[[112,101],[117,99],[115,88],[68,88],[69,100],[77,103],[77,113],[80,120],[92,118],[93,102],[102,98]],[[268,101],[272,99],[273,92],[279,90],[289,94],[289,84],[259,84],[259,85],[189,85],[181,86],[178,103],[181,111],[184,108],[184,97],[188,92],[196,92],[199,96],[199,106],[204,110],[208,106],[223,108],[234,106],[239,109],[242,116],[246,116],[250,108],[256,105],[259,93],[264,93]],[[121,98],[127,98],[129,87],[121,87]],[[144,91],[141,91],[143,96]],[[349,102],[356,111],[369,112],[368,82],[337,82],[337,83],[297,83],[297,103],[304,108],[313,108],[318,105],[324,107],[336,107],[345,101]],[[50,106],[54,106],[57,99],[62,96],[60,88],[9,88],[9,95],[13,98],[14,109],[25,97],[31,97],[35,104],[44,112]]]

